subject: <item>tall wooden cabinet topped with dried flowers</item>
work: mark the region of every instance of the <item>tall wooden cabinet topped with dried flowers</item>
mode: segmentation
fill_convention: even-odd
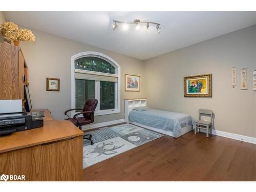
[[[19,47],[0,43],[0,99],[24,99],[28,66]]]

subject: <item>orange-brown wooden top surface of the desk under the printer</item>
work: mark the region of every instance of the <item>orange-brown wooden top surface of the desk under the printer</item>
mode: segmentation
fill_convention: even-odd
[[[44,126],[1,136],[0,153],[83,135],[70,121],[53,120],[49,110],[40,111],[45,111]]]

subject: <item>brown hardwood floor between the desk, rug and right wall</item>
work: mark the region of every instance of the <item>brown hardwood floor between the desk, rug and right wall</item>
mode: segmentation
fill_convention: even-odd
[[[163,136],[83,169],[84,181],[256,181],[256,145],[204,133]]]

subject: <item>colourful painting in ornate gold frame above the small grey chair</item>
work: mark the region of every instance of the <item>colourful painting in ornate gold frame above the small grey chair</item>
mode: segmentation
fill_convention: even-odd
[[[184,77],[184,97],[211,97],[211,74]]]

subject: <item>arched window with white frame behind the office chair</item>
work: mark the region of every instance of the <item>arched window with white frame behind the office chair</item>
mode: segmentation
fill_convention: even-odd
[[[120,66],[107,55],[83,52],[72,56],[72,108],[82,109],[89,98],[96,98],[95,115],[120,113]]]

